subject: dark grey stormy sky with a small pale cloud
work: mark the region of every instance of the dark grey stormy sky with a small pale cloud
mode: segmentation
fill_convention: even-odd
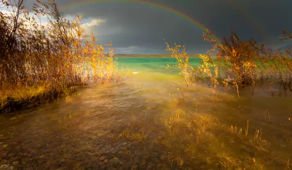
[[[236,31],[240,39],[254,38],[272,49],[292,42],[278,40],[283,29],[292,30],[292,0],[144,0],[156,6],[139,1],[96,0],[74,5],[80,0],[55,0],[65,16],[82,14],[85,33],[93,33],[100,44],[112,41],[115,53],[168,53],[164,39],[170,45],[185,45],[188,53],[209,50],[212,46],[203,41],[204,30],[178,13],[208,28],[219,39]],[[27,0],[26,7],[34,2]],[[68,5],[73,7],[66,8]]]

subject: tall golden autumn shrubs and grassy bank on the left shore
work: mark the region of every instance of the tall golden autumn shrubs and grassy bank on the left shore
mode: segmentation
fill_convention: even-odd
[[[68,96],[76,85],[119,80],[111,44],[107,53],[86,35],[82,17],[66,18],[54,0],[37,0],[30,10],[25,0],[0,5],[0,111]]]

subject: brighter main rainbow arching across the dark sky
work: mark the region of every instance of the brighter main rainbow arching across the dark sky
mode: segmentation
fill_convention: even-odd
[[[184,19],[188,20],[189,22],[197,25],[204,33],[206,33],[206,30],[207,30],[207,28],[205,26],[203,26],[201,23],[199,23],[198,21],[194,20],[193,18],[188,17],[187,15],[185,15],[177,10],[174,10],[170,7],[166,7],[166,6],[157,4],[157,3],[144,1],[144,0],[84,0],[84,1],[69,4],[67,6],[63,6],[60,8],[60,10],[68,10],[68,9],[72,9],[72,8],[75,8],[78,6],[90,5],[93,3],[100,3],[100,2],[133,2],[133,3],[145,4],[148,6],[154,6],[154,7],[157,7],[159,9],[169,11],[169,12],[176,14],[180,17],[183,17]],[[213,39],[216,39],[218,43],[220,42],[220,38],[218,38],[216,35],[213,34],[211,37]]]

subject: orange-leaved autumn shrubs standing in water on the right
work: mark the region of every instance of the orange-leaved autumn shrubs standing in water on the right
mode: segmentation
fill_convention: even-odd
[[[240,97],[240,89],[250,86],[251,93],[255,93],[255,87],[263,82],[269,83],[271,95],[274,95],[274,85],[280,85],[285,95],[292,91],[292,51],[289,48],[273,51],[264,44],[258,44],[255,40],[243,41],[235,32],[229,38],[221,41],[212,38],[212,32],[203,33],[205,41],[212,43],[213,49],[200,54],[202,62],[198,68],[189,65],[188,55],[181,45],[170,47],[166,42],[166,50],[171,51],[172,57],[178,64],[173,66],[181,69],[186,85],[193,83],[194,77],[208,77],[212,84],[213,99],[217,99],[217,85],[221,82],[224,91],[231,85]],[[283,31],[281,41],[291,39],[291,32]],[[214,60],[211,55],[216,55]],[[169,66],[168,66],[169,68]],[[206,80],[206,79],[205,79]],[[210,84],[209,84],[210,86]]]

